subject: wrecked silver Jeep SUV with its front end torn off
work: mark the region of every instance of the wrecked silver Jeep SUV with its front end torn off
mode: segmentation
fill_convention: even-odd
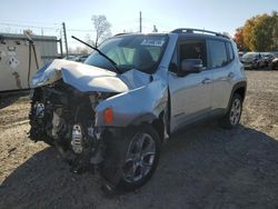
[[[33,76],[30,138],[57,147],[75,172],[136,189],[181,127],[208,118],[236,127],[246,86],[237,47],[220,33],[118,34],[85,63],[54,60]]]

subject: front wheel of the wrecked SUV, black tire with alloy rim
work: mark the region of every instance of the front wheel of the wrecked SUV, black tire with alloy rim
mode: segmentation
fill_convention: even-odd
[[[121,137],[107,141],[101,173],[117,190],[135,190],[153,175],[161,141],[150,125],[127,128]]]

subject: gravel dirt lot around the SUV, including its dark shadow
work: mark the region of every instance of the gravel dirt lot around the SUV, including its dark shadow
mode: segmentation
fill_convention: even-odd
[[[188,128],[163,147],[153,178],[107,197],[56,150],[28,139],[27,96],[0,99],[0,208],[278,208],[278,71],[247,71],[241,125]]]

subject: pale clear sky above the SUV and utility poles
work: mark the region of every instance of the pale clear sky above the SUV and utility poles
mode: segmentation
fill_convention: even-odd
[[[61,22],[68,34],[83,39],[92,32],[92,14],[105,14],[112,33],[139,30],[159,32],[175,28],[200,28],[234,36],[236,28],[256,14],[278,11],[278,0],[1,0],[0,32],[21,32],[24,28],[40,34],[60,36]],[[75,47],[75,40],[69,40]]]

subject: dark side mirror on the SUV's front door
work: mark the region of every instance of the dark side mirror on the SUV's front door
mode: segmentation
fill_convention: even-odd
[[[202,70],[202,60],[201,59],[185,59],[180,64],[180,72],[182,74],[197,73]]]

